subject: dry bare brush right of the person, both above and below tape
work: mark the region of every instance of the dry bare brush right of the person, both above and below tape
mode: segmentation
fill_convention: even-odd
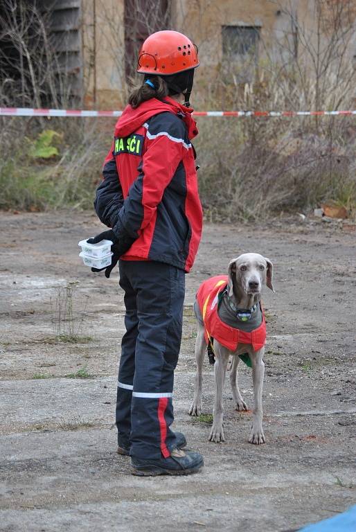
[[[260,42],[251,82],[238,65],[217,65],[193,93],[195,107],[338,110],[354,103],[352,1],[316,0],[314,21],[298,19],[292,1],[276,1],[290,31]],[[242,65],[244,68],[244,65]],[[345,116],[202,118],[196,145],[208,218],[246,220],[281,210],[308,211],[333,199],[355,209],[355,124]]]

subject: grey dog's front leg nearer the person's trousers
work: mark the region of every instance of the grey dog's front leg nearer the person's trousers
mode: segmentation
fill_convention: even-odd
[[[213,427],[209,436],[210,441],[224,441],[224,429],[222,427],[223,407],[222,407],[222,391],[224,389],[224,380],[226,375],[227,363],[229,362],[229,351],[220,346],[219,342],[214,340],[215,351],[215,402],[214,402],[214,418]]]

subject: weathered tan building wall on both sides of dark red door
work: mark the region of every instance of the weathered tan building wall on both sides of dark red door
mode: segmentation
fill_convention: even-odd
[[[355,5],[355,19],[356,0],[350,1]],[[261,64],[267,57],[281,62],[290,60],[296,36],[292,14],[305,29],[305,41],[315,46],[317,39],[314,0],[172,0],[171,10],[170,28],[186,33],[199,47],[201,66],[195,89],[201,92],[208,92],[210,80],[220,73],[222,26],[258,28],[257,55]],[[324,10],[323,16],[330,17],[330,9]],[[122,108],[127,99],[124,0],[82,0],[82,19],[84,105]],[[299,54],[303,53],[302,48],[299,42]],[[354,48],[350,42],[350,57],[355,54]]]

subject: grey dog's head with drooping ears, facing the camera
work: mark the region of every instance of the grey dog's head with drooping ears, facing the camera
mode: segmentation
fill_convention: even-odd
[[[273,264],[269,258],[258,253],[244,253],[229,263],[229,296],[233,296],[233,286],[240,287],[246,294],[260,294],[262,285],[272,292]]]

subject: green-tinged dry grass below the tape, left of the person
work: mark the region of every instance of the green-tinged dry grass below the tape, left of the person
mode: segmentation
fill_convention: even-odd
[[[61,141],[59,155],[49,161],[30,156],[41,128],[28,125],[28,118],[15,118],[0,132],[0,209],[92,209],[111,132],[100,121],[70,120],[70,127],[61,119],[51,121]]]

